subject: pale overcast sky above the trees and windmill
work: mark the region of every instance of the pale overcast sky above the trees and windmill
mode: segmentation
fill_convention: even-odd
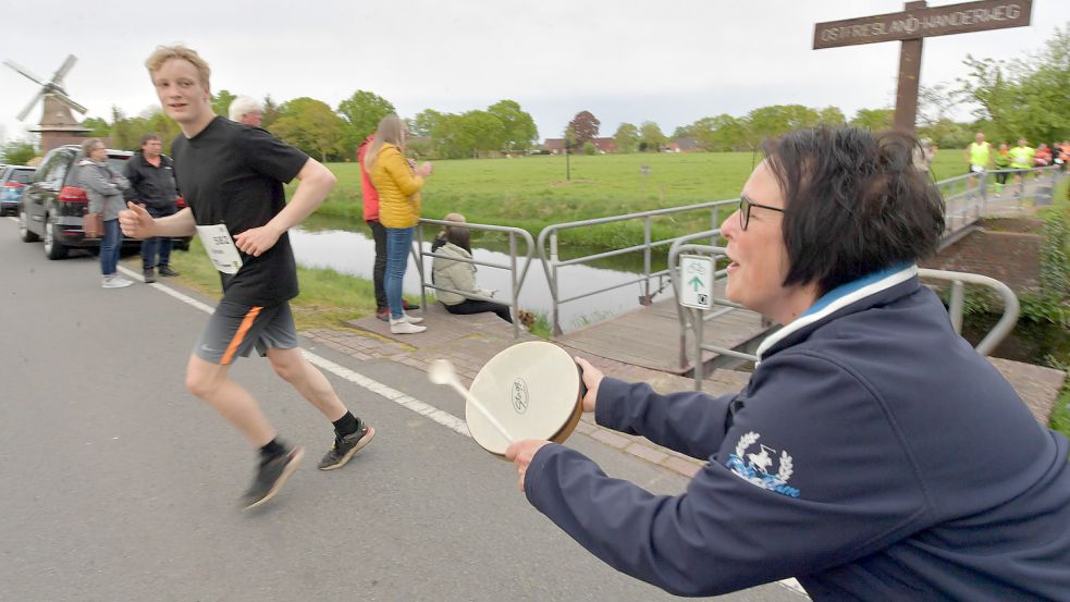
[[[931,2],[945,5],[954,2]],[[404,118],[464,112],[513,99],[539,137],[558,137],[590,110],[602,135],[655,121],[666,134],[703,116],[768,105],[895,103],[899,42],[811,50],[814,24],[902,10],[895,0],[38,0],[0,37],[0,59],[48,78],[71,53],[64,87],[110,121],[158,107],[144,67],[158,45],[184,42],[212,69],[213,91],[337,108],[371,90]],[[9,20],[10,21],[10,20]],[[1040,50],[1070,24],[1070,0],[1034,0],[1032,25],[927,38],[922,84],[954,84],[962,60]],[[0,67],[0,137],[37,86]],[[79,115],[76,115],[81,119]],[[967,113],[958,115],[960,119]]]

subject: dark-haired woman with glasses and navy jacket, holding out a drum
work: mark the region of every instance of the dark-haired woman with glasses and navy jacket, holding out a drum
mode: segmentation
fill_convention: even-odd
[[[728,298],[784,324],[747,388],[660,395],[578,360],[599,425],[709,464],[653,495],[521,441],[530,503],[682,595],[797,577],[815,600],[1066,600],[1068,442],[919,283],[944,206],[915,145],[849,127],[766,144],[722,224]]]

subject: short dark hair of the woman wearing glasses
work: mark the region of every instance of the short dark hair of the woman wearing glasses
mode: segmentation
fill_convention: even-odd
[[[944,199],[914,168],[918,139],[857,127],[800,130],[764,145],[784,194],[784,285],[821,294],[936,251]]]

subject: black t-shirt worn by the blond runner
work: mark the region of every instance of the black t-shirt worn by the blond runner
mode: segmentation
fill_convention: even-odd
[[[197,225],[226,224],[231,236],[265,225],[286,206],[282,189],[308,155],[259,127],[217,116],[204,131],[171,145],[179,188]],[[241,253],[241,251],[238,251]],[[267,253],[244,253],[234,275],[220,272],[223,299],[270,307],[297,296],[297,266],[283,233]]]

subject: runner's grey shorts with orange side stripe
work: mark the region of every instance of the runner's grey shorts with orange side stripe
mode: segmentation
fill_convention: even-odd
[[[194,353],[205,361],[227,366],[238,357],[249,357],[254,347],[261,357],[270,348],[297,347],[297,327],[290,303],[258,307],[219,302]]]

